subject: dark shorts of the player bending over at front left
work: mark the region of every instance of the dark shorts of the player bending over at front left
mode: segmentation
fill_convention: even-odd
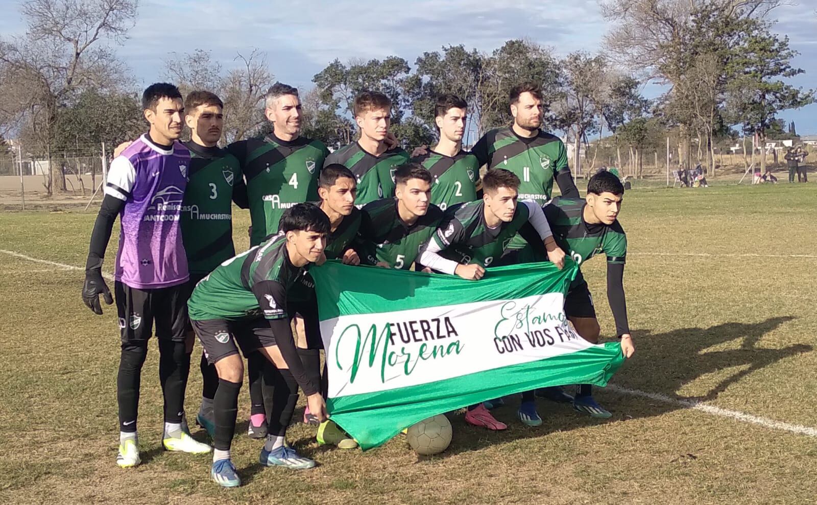
[[[214,364],[227,356],[243,355],[275,346],[275,336],[267,320],[258,318],[246,321],[191,320],[190,324],[204,347],[204,356],[209,364]]]

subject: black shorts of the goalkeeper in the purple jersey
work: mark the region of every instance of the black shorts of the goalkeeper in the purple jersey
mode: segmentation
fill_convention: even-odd
[[[185,342],[190,283],[136,289],[116,281],[114,295],[123,346],[147,345],[154,333],[154,324],[156,338]]]

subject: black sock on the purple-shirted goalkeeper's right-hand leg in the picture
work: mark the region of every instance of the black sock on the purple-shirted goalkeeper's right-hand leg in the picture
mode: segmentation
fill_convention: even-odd
[[[158,380],[164,394],[164,422],[181,422],[190,375],[190,353],[185,342],[158,340]]]

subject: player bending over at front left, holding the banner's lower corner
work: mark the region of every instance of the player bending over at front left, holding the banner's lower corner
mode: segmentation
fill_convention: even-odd
[[[325,261],[329,219],[310,203],[289,208],[280,221],[281,233],[225,261],[194,289],[188,307],[190,320],[216,365],[219,385],[213,410],[216,432],[212,480],[225,487],[240,485],[230,460],[239,391],[246,355],[260,352],[275,367],[268,435],[260,462],[265,466],[311,468],[315,461],[297,454],[286,442],[300,386],[310,411],[328,418],[319,385],[297,354],[287,314],[288,292],[308,266]]]

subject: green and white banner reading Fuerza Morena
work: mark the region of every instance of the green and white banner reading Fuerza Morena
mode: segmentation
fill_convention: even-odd
[[[437,413],[538,387],[605,386],[618,342],[567,324],[569,260],[488,270],[471,281],[329,261],[313,267],[328,409],[370,449]]]

